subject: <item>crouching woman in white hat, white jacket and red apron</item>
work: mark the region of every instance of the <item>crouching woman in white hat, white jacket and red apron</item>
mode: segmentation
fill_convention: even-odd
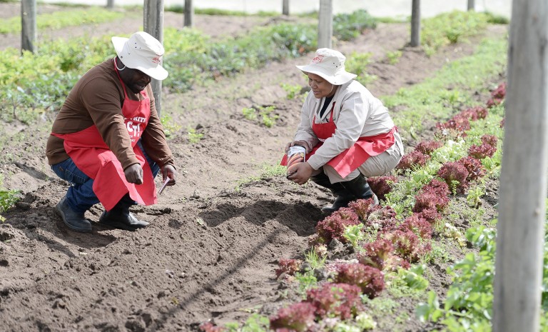
[[[382,102],[355,74],[345,71],[345,56],[318,49],[310,64],[297,66],[308,76],[311,91],[300,114],[293,142],[303,146],[306,161],[291,167],[288,179],[300,185],[310,178],[335,195],[331,213],[350,201],[374,198],[367,177],[390,172],[402,159],[400,135]],[[282,164],[286,163],[286,159]]]

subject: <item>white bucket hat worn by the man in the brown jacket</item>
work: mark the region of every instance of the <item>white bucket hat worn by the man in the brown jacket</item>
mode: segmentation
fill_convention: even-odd
[[[138,69],[161,81],[168,77],[168,71],[161,66],[163,46],[150,34],[139,31],[129,38],[112,37],[112,44],[122,63],[131,69]]]

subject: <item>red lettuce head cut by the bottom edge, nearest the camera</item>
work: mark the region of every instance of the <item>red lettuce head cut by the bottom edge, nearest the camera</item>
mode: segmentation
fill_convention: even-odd
[[[281,331],[306,332],[314,326],[316,308],[312,303],[293,303],[288,308],[281,308],[270,317],[270,329]]]

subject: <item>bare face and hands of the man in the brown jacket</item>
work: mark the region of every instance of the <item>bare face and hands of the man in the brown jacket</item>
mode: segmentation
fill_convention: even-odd
[[[151,76],[143,73],[138,69],[131,69],[122,65],[122,61],[116,56],[116,64],[118,68],[118,74],[123,81],[123,84],[130,89],[133,94],[138,94],[143,91],[148,84],[151,83]],[[123,69],[122,69],[123,66]],[[143,168],[140,164],[133,164],[123,170],[126,180],[129,183],[142,184],[143,183]],[[168,186],[173,186],[176,183],[176,171],[173,165],[168,164],[162,166],[162,181],[166,181],[166,178],[170,178]]]

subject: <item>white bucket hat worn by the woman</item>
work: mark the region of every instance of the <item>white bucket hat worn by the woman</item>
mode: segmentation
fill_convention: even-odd
[[[310,64],[297,66],[305,73],[316,74],[330,84],[341,85],[355,79],[356,74],[345,71],[345,56],[334,49],[318,49]]]

